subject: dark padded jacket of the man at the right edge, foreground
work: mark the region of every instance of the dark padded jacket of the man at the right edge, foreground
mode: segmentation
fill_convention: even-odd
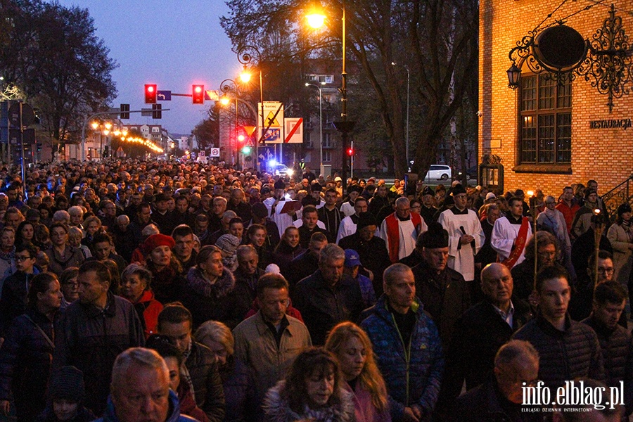
[[[597,321],[593,314],[582,320],[583,324],[594,328],[604,362],[605,383],[609,387],[619,386],[625,381],[625,400],[629,415],[633,411],[633,338],[631,334],[617,325],[613,330]]]

